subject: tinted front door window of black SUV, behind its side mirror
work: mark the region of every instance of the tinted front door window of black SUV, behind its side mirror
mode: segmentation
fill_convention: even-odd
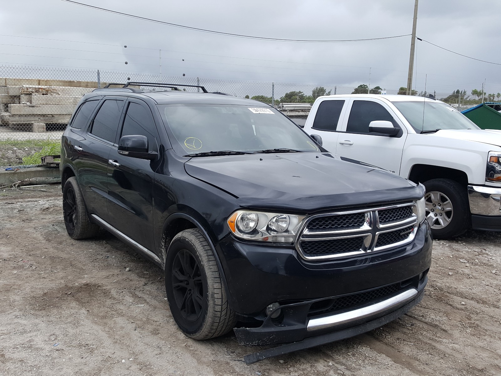
[[[155,121],[151,111],[140,104],[131,102],[127,108],[122,136],[140,134],[148,137],[148,147],[150,150],[158,150],[155,137],[158,136]]]

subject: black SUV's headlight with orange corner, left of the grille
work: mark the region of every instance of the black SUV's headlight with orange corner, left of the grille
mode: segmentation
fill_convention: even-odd
[[[305,216],[237,210],[227,224],[240,239],[292,244],[304,219]]]

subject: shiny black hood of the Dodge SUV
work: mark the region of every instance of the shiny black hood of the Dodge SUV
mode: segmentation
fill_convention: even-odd
[[[236,197],[241,207],[315,212],[420,199],[424,192],[394,173],[330,153],[194,157],[186,172]]]

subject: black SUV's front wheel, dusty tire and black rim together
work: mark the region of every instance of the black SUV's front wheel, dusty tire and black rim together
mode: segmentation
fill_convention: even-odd
[[[218,337],[236,323],[214,254],[198,229],[181,231],[172,239],[165,291],[177,326],[191,338]]]

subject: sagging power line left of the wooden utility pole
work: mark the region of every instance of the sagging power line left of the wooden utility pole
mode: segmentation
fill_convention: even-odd
[[[146,18],[146,17],[130,15],[130,14],[127,14],[127,13],[112,11],[110,9],[99,8],[99,7],[95,7],[95,6],[84,4],[84,3],[78,3],[78,2],[74,2],[72,0],[61,0],[61,1],[67,2],[67,3],[71,3],[71,4],[80,5],[80,6],[87,7],[87,8],[96,9],[98,11],[113,13],[113,14],[120,15],[120,16],[125,16],[125,17],[131,17],[131,18],[135,18],[135,19],[138,19],[138,20],[154,22],[156,24],[162,24],[162,25],[169,25],[169,26],[173,26],[173,27],[176,27],[176,28],[195,30],[195,31],[203,32],[203,33],[226,35],[226,36],[230,36],[230,37],[258,39],[258,40],[262,40],[262,41],[303,42],[303,43],[346,43],[346,42],[378,41],[378,40],[381,40],[381,39],[400,38],[400,37],[407,37],[407,36],[410,35],[410,34],[405,34],[405,35],[395,35],[395,36],[392,36],[392,37],[369,38],[369,39],[345,39],[345,40],[305,40],[305,39],[283,39],[283,38],[270,38],[270,37],[256,37],[256,36],[252,36],[252,35],[224,33],[224,32],[218,32],[218,31],[214,31],[214,30],[194,28],[194,27],[186,26],[186,25],[172,24],[170,22],[153,20],[153,19]]]

